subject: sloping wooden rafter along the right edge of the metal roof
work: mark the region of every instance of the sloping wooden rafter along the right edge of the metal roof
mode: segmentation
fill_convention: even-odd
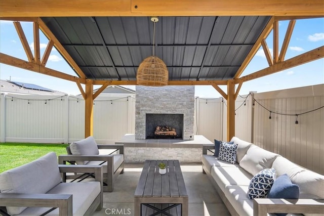
[[[261,46],[261,41],[263,39],[265,39],[269,35],[269,33],[271,32],[271,30],[272,30],[273,21],[274,21],[274,17],[271,17],[271,19],[269,20],[268,24],[265,26],[265,28],[263,29],[263,31],[260,34],[259,38],[255,42],[254,46],[251,48],[250,53],[247,55],[247,57],[245,58],[245,60],[241,64],[241,66],[238,68],[238,70],[237,70],[234,78],[238,78],[243,73],[243,71],[246,69],[246,67],[248,66],[248,64],[253,59],[254,55],[258,52],[258,50],[259,50],[259,48]]]

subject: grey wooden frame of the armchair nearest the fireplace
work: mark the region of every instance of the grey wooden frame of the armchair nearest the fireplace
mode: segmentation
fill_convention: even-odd
[[[97,145],[98,149],[116,149],[117,152],[119,151],[119,154],[124,154],[124,145]],[[107,161],[107,170],[103,171],[103,191],[104,192],[112,192],[113,191],[113,185],[114,182],[116,181],[117,177],[119,174],[124,173],[124,161],[123,163],[120,164],[120,166],[116,169],[114,172],[114,167],[113,167],[113,154],[112,152],[109,155],[72,155],[70,147],[66,147],[66,151],[68,155],[59,155],[59,164],[66,164],[66,162],[70,164],[74,164],[75,161]],[[67,179],[73,178],[75,179],[77,175],[73,176],[66,176]]]

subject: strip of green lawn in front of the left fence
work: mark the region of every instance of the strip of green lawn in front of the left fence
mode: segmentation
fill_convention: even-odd
[[[66,154],[68,144],[0,143],[0,172],[35,160],[49,152]]]

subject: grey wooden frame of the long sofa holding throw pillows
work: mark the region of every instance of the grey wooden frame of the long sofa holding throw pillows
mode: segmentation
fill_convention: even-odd
[[[203,145],[203,155],[207,154],[215,145]],[[213,151],[211,151],[213,152]],[[214,152],[213,152],[214,153]],[[213,179],[210,171],[203,164],[203,173],[207,174],[209,180],[215,187],[225,206],[231,215],[239,215],[232,204],[226,198],[224,192]],[[323,199],[270,199],[257,198],[253,200],[253,215],[263,216],[267,213],[323,213]]]

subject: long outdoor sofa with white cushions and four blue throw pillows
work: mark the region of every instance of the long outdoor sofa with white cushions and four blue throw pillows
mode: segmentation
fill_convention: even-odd
[[[217,145],[216,147],[214,145],[203,146],[202,163],[203,172],[207,174],[232,215],[324,214],[324,176],[236,137],[233,137],[231,142],[229,145],[237,144],[235,163],[217,159],[214,156],[214,151],[208,153],[211,152],[211,149],[215,150],[216,148],[217,150]],[[229,145],[226,146],[234,148],[234,145]],[[219,157],[220,154],[221,152],[219,152]],[[224,159],[223,154],[221,159]],[[248,197],[248,194],[253,191],[249,191],[250,182],[253,182],[251,180],[260,177],[260,173],[264,172],[263,170],[273,171],[271,168],[275,170],[276,180],[280,176],[282,176],[281,180],[287,176],[291,180],[290,185],[285,183],[280,186],[279,184],[276,189],[282,189],[282,192],[277,194],[289,197],[294,194],[293,191],[289,190],[295,190],[296,187],[299,187],[296,199],[284,199],[285,197],[250,199]],[[276,180],[274,180],[274,183]],[[257,183],[259,184],[259,182]],[[274,187],[274,183],[272,187]]]

